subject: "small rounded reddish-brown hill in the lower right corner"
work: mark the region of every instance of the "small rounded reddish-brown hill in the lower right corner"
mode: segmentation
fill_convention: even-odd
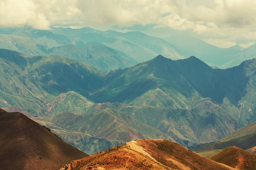
[[[256,155],[239,147],[227,147],[210,159],[238,170],[256,170]]]

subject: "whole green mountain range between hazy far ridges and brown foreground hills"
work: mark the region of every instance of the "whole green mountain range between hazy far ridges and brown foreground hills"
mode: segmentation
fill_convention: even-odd
[[[98,150],[83,147],[81,138],[105,139],[102,150],[147,138],[188,147],[215,142],[256,121],[255,59],[221,70],[196,57],[159,55],[108,74],[53,55],[2,49],[0,59],[0,106],[27,111],[90,154]]]

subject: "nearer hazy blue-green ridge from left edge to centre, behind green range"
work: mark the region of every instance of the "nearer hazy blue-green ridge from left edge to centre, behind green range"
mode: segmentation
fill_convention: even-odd
[[[122,51],[92,41],[77,41],[49,48],[32,38],[0,34],[0,48],[18,51],[28,56],[58,55],[68,57],[86,62],[106,72],[128,68],[138,63]]]

